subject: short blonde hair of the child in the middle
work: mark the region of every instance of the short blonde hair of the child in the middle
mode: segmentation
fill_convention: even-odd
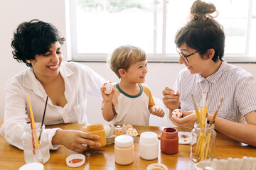
[[[119,69],[127,70],[136,62],[146,60],[146,52],[139,47],[132,45],[122,45],[117,47],[107,58],[107,64],[120,79]]]

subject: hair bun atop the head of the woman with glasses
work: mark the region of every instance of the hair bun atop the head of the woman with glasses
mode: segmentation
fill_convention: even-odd
[[[211,16],[211,13],[216,12],[215,16]],[[214,18],[218,16],[218,11],[216,11],[216,7],[212,3],[207,3],[205,1],[196,0],[191,6],[189,19],[191,21],[205,21],[206,18]]]

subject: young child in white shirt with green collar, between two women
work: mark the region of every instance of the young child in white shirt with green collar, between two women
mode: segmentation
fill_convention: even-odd
[[[153,96],[145,82],[148,72],[146,53],[139,47],[124,45],[112,52],[108,61],[120,79],[111,94],[102,86],[102,115],[113,125],[149,125],[149,113],[164,117],[162,108],[154,106]]]

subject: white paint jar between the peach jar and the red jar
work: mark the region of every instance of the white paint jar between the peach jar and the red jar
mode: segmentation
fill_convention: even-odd
[[[159,141],[155,132],[142,132],[139,139],[139,156],[152,160],[159,155]]]

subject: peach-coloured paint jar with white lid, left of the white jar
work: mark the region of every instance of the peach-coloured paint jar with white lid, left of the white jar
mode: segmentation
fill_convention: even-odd
[[[129,135],[119,135],[114,139],[114,161],[127,165],[134,162],[134,140]]]

